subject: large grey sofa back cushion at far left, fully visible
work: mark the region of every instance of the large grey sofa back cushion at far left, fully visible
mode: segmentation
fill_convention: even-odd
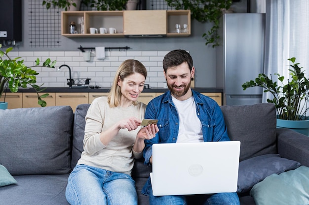
[[[11,175],[71,171],[70,106],[0,110],[0,163]]]

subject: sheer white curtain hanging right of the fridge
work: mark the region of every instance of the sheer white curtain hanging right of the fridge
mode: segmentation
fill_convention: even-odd
[[[264,73],[289,76],[289,58],[295,57],[309,77],[309,0],[267,0]],[[263,102],[273,98],[263,93]]]

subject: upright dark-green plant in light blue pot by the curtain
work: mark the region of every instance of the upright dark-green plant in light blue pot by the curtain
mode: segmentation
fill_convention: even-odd
[[[288,60],[292,64],[290,65],[291,68],[289,69],[287,84],[283,84],[284,76],[280,76],[279,73],[275,73],[274,75],[277,75],[281,85],[273,81],[271,75],[269,78],[267,75],[261,73],[254,81],[251,80],[242,85],[244,90],[258,86],[264,88],[264,92],[270,92],[272,94],[273,99],[267,99],[267,102],[275,105],[278,119],[277,126],[279,127],[282,127],[280,125],[281,123],[285,123],[282,120],[289,120],[287,123],[289,126],[291,125],[291,121],[294,123],[299,121],[303,124],[304,122],[309,122],[307,116],[307,111],[309,110],[307,105],[309,98],[309,80],[305,77],[303,67],[299,67],[300,63],[295,63],[295,58]],[[301,128],[300,126],[304,127],[304,125],[297,125],[296,128],[299,129]]]

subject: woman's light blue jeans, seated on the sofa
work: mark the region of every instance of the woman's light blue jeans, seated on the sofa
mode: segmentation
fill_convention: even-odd
[[[71,205],[137,205],[131,176],[77,165],[68,178],[66,198]]]

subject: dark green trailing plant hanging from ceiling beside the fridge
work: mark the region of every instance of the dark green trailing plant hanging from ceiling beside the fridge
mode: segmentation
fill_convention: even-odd
[[[206,40],[205,45],[212,44],[212,47],[219,46],[220,17],[224,11],[232,5],[232,0],[165,0],[168,6],[176,10],[191,10],[193,19],[201,23],[209,22],[213,26],[210,30],[203,33],[202,37]]]

